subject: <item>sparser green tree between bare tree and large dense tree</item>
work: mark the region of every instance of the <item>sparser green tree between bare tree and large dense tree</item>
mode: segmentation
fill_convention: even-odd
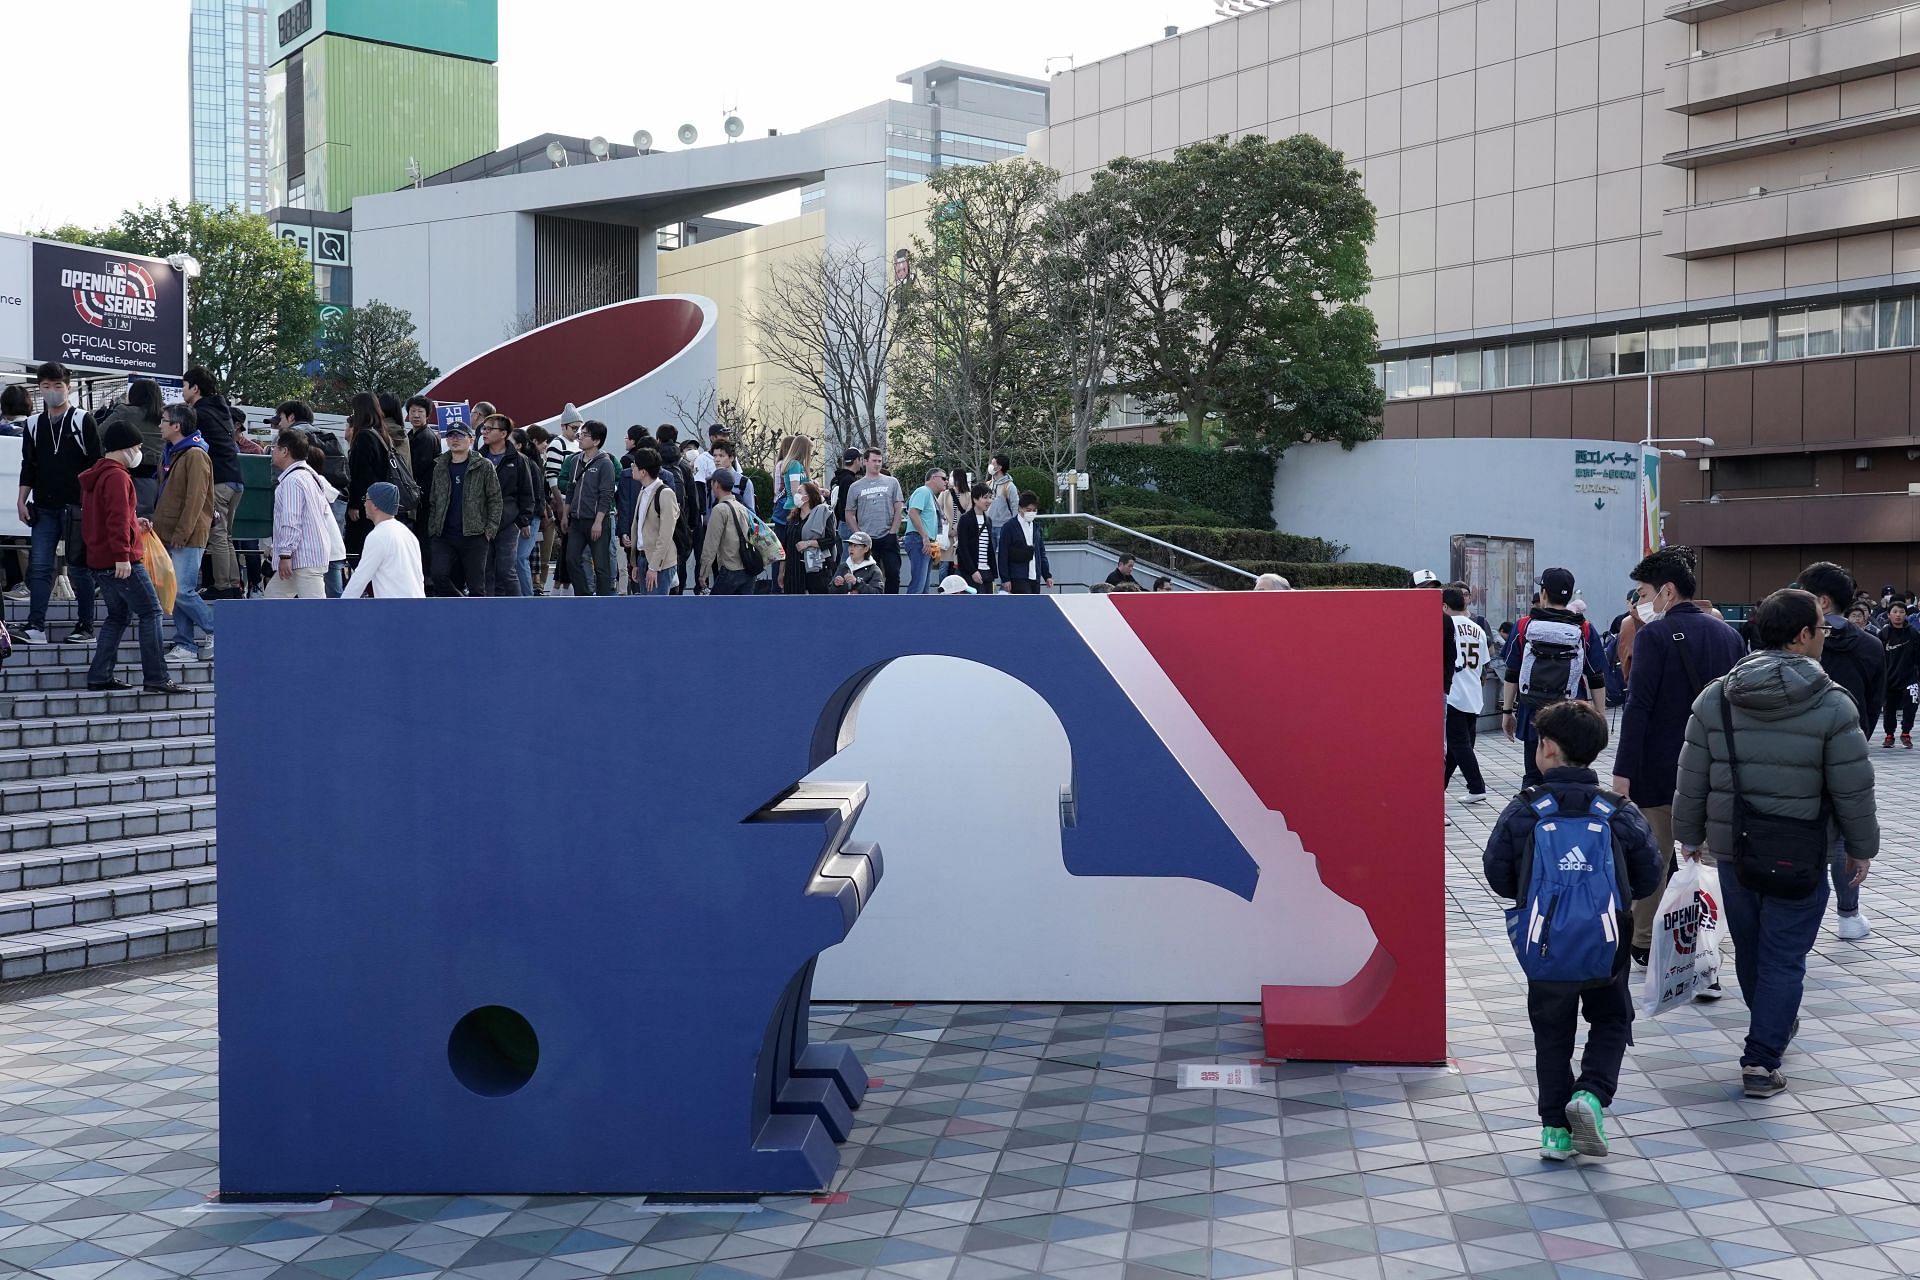
[[[1060,175],[1029,159],[941,169],[899,290],[889,413],[933,459],[973,470],[1056,430],[1066,380],[1048,328],[1041,225]]]

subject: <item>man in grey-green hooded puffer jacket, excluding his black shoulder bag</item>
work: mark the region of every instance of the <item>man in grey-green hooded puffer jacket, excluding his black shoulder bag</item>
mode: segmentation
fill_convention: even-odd
[[[1820,935],[1830,887],[1822,875],[1809,896],[1780,898],[1740,881],[1720,700],[1734,710],[1740,793],[1751,814],[1812,819],[1830,806],[1847,841],[1853,885],[1866,879],[1880,852],[1880,819],[1860,712],[1820,670],[1826,618],[1818,601],[1805,591],[1774,591],[1753,610],[1751,629],[1759,651],[1693,702],[1674,783],[1674,837],[1690,858],[1703,842],[1718,854],[1734,971],[1749,1019],[1740,1079],[1747,1098],[1772,1098],[1788,1086],[1780,1055],[1799,1025],[1807,952]]]

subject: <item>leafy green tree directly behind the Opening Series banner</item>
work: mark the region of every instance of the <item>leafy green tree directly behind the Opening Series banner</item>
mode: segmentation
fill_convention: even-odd
[[[280,242],[267,219],[169,200],[127,209],[100,230],[61,226],[42,234],[148,257],[192,253],[200,276],[186,284],[186,359],[209,368],[234,401],[273,405],[305,393],[313,265]]]

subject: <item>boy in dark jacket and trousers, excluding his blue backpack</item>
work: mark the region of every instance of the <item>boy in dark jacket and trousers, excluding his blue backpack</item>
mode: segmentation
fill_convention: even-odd
[[[1486,842],[1486,883],[1501,898],[1526,894],[1534,856],[1534,802],[1551,794],[1561,814],[1592,814],[1596,796],[1613,806],[1607,823],[1613,833],[1615,885],[1622,900],[1615,912],[1619,948],[1613,975],[1597,983],[1526,983],[1526,1017],[1534,1027],[1534,1073],[1540,1082],[1540,1157],[1571,1159],[1605,1155],[1607,1132],[1601,1111],[1613,1103],[1620,1084],[1620,1061],[1634,1040],[1634,998],[1628,971],[1634,940],[1632,898],[1659,890],[1661,860],[1647,819],[1628,800],[1601,791],[1590,768],[1607,747],[1607,720],[1592,702],[1555,702],[1534,716],[1540,735],[1538,787],[1523,791],[1500,816]],[[1563,864],[1565,865],[1565,864]],[[1586,1013],[1586,1054],[1580,1079],[1572,1073],[1572,1042],[1580,1013]]]

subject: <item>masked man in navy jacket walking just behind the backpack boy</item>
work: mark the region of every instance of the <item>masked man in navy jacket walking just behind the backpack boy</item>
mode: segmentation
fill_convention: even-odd
[[[1613,756],[1613,789],[1640,806],[1661,854],[1661,887],[1634,902],[1634,963],[1645,965],[1653,946],[1653,917],[1672,869],[1674,771],[1701,689],[1734,670],[1745,654],[1740,633],[1693,601],[1693,555],[1663,547],[1634,566],[1640,583],[1634,616],[1634,677],[1620,714],[1620,743]],[[1713,854],[1707,854],[1711,860]],[[1709,996],[1718,994],[1718,988]]]

